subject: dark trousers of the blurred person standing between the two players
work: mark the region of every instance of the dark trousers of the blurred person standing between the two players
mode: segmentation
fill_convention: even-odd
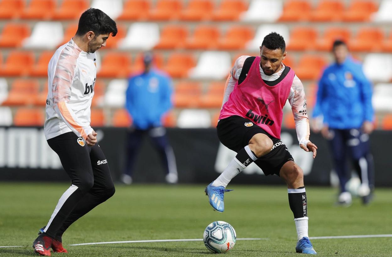
[[[145,135],[149,136],[153,146],[158,151],[165,173],[177,174],[176,160],[174,158],[173,149],[169,144],[169,140],[167,139],[166,129],[163,127],[154,127],[145,130],[131,128],[129,130],[126,142],[127,156],[124,173],[132,176],[135,159]]]

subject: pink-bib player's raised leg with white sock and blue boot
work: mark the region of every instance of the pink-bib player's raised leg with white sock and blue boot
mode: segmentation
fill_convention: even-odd
[[[254,135],[249,140],[249,144],[237,152],[223,173],[205,188],[210,205],[218,212],[223,212],[225,210],[223,194],[231,191],[225,189],[227,184],[249,164],[269,153],[271,149],[272,140],[267,135],[262,133]]]

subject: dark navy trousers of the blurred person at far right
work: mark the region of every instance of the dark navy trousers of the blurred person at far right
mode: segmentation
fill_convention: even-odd
[[[332,138],[329,140],[332,151],[334,169],[339,177],[340,191],[345,192],[345,185],[351,174],[348,169],[347,158],[357,171],[362,183],[374,187],[374,163],[370,153],[369,136],[361,129],[329,129]]]

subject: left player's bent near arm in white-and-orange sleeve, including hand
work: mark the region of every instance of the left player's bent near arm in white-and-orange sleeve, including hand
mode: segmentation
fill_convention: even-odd
[[[76,75],[76,54],[64,51],[60,54],[52,82],[53,109],[58,117],[78,136],[82,137],[87,144],[96,142],[96,134],[90,124],[81,122],[69,106],[71,88]]]

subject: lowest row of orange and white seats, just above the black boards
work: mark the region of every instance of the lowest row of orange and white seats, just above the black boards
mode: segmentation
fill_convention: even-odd
[[[183,109],[178,116],[173,112],[168,113],[162,120],[165,127],[178,128],[209,128],[216,126],[219,118],[219,111],[212,115],[207,110]],[[45,121],[44,108],[20,107],[12,115],[9,107],[0,106],[0,126],[42,126]],[[103,109],[91,109],[91,126],[101,127],[112,125],[114,127],[127,127],[132,124],[132,118],[125,109],[116,109],[113,115],[105,115]],[[376,119],[377,124],[377,119]],[[381,124],[377,126],[381,129],[392,130],[392,115],[382,116]],[[286,113],[283,117],[283,128],[295,128],[292,113]]]

